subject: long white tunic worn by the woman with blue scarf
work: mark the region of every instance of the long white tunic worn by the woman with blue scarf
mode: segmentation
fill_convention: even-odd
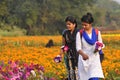
[[[92,34],[89,34],[88,36],[91,38]],[[100,31],[98,32],[98,41],[102,42]],[[82,50],[89,57],[89,59],[83,60],[82,56],[79,55],[79,80],[88,80],[93,77],[104,78],[99,53],[94,53],[95,45],[88,44],[84,37],[81,39],[80,32],[76,35],[76,50]]]

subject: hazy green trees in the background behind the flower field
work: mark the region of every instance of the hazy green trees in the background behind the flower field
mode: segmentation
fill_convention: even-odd
[[[94,26],[120,29],[120,5],[112,0],[0,0],[0,31],[21,30],[25,35],[57,35],[64,19],[91,12]]]

